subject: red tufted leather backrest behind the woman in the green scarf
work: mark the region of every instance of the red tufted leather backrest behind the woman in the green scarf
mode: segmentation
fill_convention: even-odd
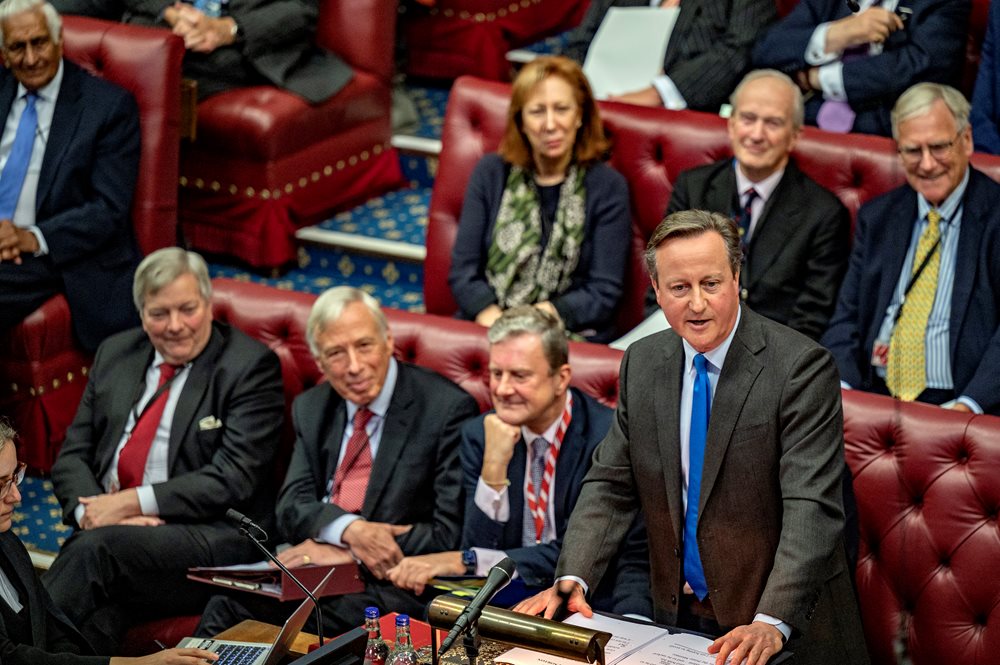
[[[510,86],[462,77],[448,99],[442,149],[427,225],[424,305],[428,312],[457,311],[448,286],[451,248],[462,200],[479,158],[496,150],[503,135]],[[696,111],[668,111],[601,102],[601,117],[612,141],[610,163],[628,181],[632,207],[633,257],[618,327],[625,332],[642,316],[648,277],[642,249],[670,201],[678,174],[732,155],[726,121]],[[814,127],[802,130],[795,159],[810,177],[836,194],[851,211],[902,184],[905,176],[895,144],[878,136],[831,134]],[[976,154],[973,163],[1000,179],[1000,158]]]

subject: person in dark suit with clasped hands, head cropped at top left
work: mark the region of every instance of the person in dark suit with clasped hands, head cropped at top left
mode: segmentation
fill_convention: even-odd
[[[54,0],[66,14],[168,28],[184,38],[184,75],[198,98],[250,85],[275,85],[312,104],[354,75],[315,43],[318,0]]]

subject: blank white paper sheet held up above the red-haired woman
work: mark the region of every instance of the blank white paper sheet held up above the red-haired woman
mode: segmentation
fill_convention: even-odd
[[[583,73],[597,99],[648,88],[663,70],[680,7],[612,7],[601,21]]]

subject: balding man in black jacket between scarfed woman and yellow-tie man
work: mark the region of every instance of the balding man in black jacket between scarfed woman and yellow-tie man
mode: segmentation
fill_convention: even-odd
[[[740,299],[819,339],[847,271],[850,215],[791,156],[802,128],[802,93],[788,76],[750,72],[730,101],[734,158],[681,173],[667,214],[711,210],[737,220],[744,252]]]

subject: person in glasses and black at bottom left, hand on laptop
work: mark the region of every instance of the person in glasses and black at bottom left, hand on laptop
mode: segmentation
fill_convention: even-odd
[[[83,635],[52,602],[28,551],[11,533],[24,463],[17,461],[14,430],[0,419],[0,663],[3,665],[204,665],[217,655],[201,649],[167,649],[141,658],[93,653]],[[137,527],[138,528],[138,527]],[[81,582],[82,583],[82,582]]]

